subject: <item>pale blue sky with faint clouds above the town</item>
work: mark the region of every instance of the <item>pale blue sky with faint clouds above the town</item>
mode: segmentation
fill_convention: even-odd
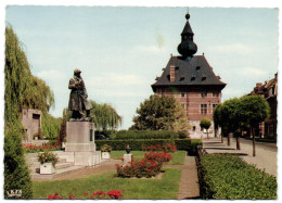
[[[153,94],[184,27],[185,7],[9,5],[5,23],[23,42],[31,73],[51,87],[62,116],[68,80],[81,69],[88,99],[108,103],[132,125],[140,103]],[[227,83],[223,102],[253,90],[278,72],[278,9],[190,7],[190,25],[216,75]]]

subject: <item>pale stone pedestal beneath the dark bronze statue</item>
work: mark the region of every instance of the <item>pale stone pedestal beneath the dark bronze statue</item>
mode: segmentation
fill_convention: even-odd
[[[101,158],[95,151],[94,124],[90,122],[67,122],[65,152],[74,153],[75,165],[99,165]]]

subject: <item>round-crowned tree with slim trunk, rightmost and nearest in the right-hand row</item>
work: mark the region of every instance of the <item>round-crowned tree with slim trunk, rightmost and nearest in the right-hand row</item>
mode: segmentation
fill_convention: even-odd
[[[270,106],[261,96],[244,96],[241,98],[242,122],[251,129],[253,137],[253,156],[256,156],[255,130],[259,123],[270,115]]]

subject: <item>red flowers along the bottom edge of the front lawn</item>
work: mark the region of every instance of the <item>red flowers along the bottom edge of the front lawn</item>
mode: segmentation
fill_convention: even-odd
[[[87,192],[84,193],[84,199],[90,199],[90,200],[103,200],[103,199],[116,199],[116,200],[120,200],[123,198],[121,191],[124,190],[112,190],[107,193],[103,192],[103,191],[97,191],[93,192],[92,194],[89,194]],[[47,196],[48,200],[63,200],[63,196],[60,196],[59,193],[54,193],[52,195],[48,195]],[[69,194],[68,195],[69,200],[77,200],[77,198],[74,194]]]

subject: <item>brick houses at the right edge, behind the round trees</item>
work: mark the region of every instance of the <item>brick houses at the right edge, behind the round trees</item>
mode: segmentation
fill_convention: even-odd
[[[257,128],[257,135],[260,135],[261,138],[270,138],[277,140],[277,93],[278,93],[278,74],[274,75],[274,78],[261,83],[257,83],[254,90],[249,93],[251,96],[262,96],[266,98],[270,105],[270,117],[260,123]]]

